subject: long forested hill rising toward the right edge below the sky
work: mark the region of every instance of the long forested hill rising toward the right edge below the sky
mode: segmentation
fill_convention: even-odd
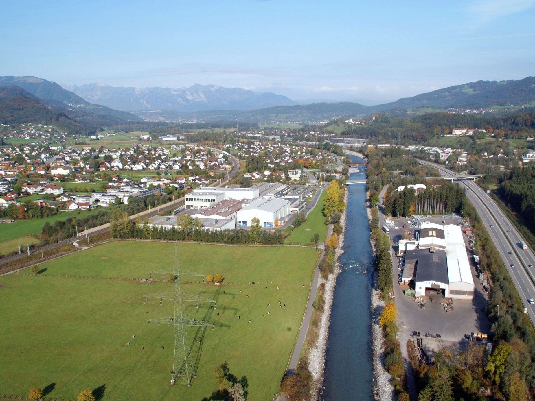
[[[417,107],[467,107],[478,109],[494,105],[521,106],[535,101],[535,77],[521,80],[464,83],[373,106],[373,111],[414,109]]]

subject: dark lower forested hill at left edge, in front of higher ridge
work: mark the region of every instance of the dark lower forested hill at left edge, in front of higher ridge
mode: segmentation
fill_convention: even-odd
[[[72,134],[85,134],[87,128],[65,113],[51,110],[37,97],[18,86],[0,86],[0,122],[5,125],[53,124]]]

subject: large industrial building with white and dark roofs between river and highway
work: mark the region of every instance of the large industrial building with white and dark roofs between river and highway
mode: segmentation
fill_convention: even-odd
[[[416,297],[424,296],[426,290],[438,290],[448,298],[472,299],[474,283],[461,227],[426,223],[415,235],[416,241],[402,244],[405,266],[401,281],[414,282]]]

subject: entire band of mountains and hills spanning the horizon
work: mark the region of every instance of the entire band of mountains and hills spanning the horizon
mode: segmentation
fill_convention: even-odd
[[[295,105],[286,96],[271,92],[255,93],[240,88],[198,84],[182,89],[113,88],[101,84],[67,87],[80,94],[83,89],[85,95],[79,96],[55,82],[33,76],[0,77],[0,88],[12,86],[20,90],[10,88],[3,91],[3,96],[0,96],[0,121],[13,122],[26,118],[28,122],[41,122],[39,119],[50,118],[62,120],[77,131],[80,126],[94,130],[142,121],[311,122],[343,116],[366,117],[375,113],[408,116],[408,111],[412,113],[423,107],[444,110],[452,107],[480,109],[507,106],[504,110],[510,112],[523,106],[535,106],[533,76],[521,80],[469,82],[375,106],[351,102]],[[115,107],[138,110],[129,113],[91,103],[103,101],[106,96],[110,102],[115,99]],[[273,103],[277,105],[265,107]]]

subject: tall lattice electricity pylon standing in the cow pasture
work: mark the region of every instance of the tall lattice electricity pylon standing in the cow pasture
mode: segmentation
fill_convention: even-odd
[[[149,319],[150,322],[167,323],[167,326],[174,326],[174,354],[173,354],[173,368],[171,369],[171,384],[174,384],[178,377],[186,382],[188,387],[192,384],[192,379],[196,376],[195,367],[189,361],[190,348],[188,348],[188,336],[186,333],[186,327],[202,326],[212,327],[210,323],[206,323],[202,320],[189,319],[187,314],[184,313],[182,302],[195,302],[195,306],[199,307],[200,302],[209,302],[213,309],[216,309],[216,300],[200,297],[194,294],[187,294],[182,291],[182,285],[180,282],[180,276],[202,276],[204,281],[204,274],[190,272],[178,267],[178,251],[177,245],[174,246],[174,263],[173,270],[170,272],[151,272],[153,273],[169,274],[173,277],[173,292],[161,292],[159,294],[143,295],[143,300],[146,302],[147,298],[159,298],[160,305],[162,305],[163,299],[171,299],[173,301],[173,315],[166,318]]]

